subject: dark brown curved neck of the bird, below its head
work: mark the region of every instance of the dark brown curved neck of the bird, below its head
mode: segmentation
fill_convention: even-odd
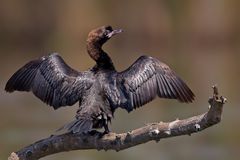
[[[115,70],[111,58],[102,50],[102,45],[99,43],[87,42],[87,52],[96,61],[96,67]]]

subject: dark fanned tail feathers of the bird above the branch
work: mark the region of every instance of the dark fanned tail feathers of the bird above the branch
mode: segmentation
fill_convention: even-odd
[[[72,122],[59,128],[59,131],[67,131],[72,133],[87,133],[92,130],[93,124],[89,119],[75,119]]]

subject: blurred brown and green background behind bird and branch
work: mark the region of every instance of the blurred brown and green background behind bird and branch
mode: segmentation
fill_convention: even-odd
[[[211,86],[228,98],[222,122],[191,137],[150,142],[121,152],[72,151],[45,160],[237,160],[240,157],[240,1],[238,0],[1,0],[0,159],[71,121],[77,109],[54,111],[30,93],[4,86],[26,62],[59,52],[75,69],[94,61],[86,53],[91,29],[110,24],[124,33],[104,49],[121,71],[147,54],[166,62],[196,94],[193,104],[157,99],[131,114],[119,109],[111,130],[125,132],[148,122],[171,121],[207,111]]]

